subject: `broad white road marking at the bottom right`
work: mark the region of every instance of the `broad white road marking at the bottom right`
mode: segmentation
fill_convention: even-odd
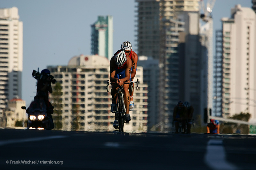
[[[237,167],[226,160],[226,153],[222,143],[223,140],[221,139],[209,140],[206,147],[206,154],[204,156],[204,161],[206,165],[208,165],[211,169],[214,170],[236,170]]]

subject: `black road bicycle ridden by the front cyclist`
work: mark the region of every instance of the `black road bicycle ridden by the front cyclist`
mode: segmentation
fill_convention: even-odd
[[[137,78],[137,81],[135,82],[137,83],[137,90],[138,90],[138,87],[139,87],[139,79]],[[115,82],[111,82],[109,83],[109,80],[107,81],[107,91],[108,91],[108,85],[111,84],[115,84]],[[126,83],[124,82],[124,84],[130,84],[132,86],[132,90],[133,90],[133,82],[131,81],[130,83]],[[123,86],[121,85],[118,85],[118,89],[117,89],[117,105],[116,105],[116,115],[117,115],[117,121],[118,121],[118,131],[119,132],[124,132],[124,123],[125,123],[125,120],[124,120],[124,115],[125,115],[125,105],[124,105],[124,93],[123,93]],[[128,100],[128,102],[130,102]]]

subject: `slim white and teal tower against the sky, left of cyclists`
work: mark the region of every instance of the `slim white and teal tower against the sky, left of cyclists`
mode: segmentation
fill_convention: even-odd
[[[110,61],[113,56],[113,17],[98,16],[91,28],[91,54],[105,56]]]

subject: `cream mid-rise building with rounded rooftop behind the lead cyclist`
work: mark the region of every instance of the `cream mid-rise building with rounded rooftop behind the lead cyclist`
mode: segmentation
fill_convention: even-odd
[[[106,90],[109,79],[109,61],[104,56],[80,55],[70,59],[67,66],[48,66],[62,87],[62,130],[114,130],[115,114],[110,112],[112,97]],[[147,131],[148,85],[143,83],[143,68],[137,67],[135,79],[139,78],[139,90],[134,87],[135,109],[130,112],[131,122],[125,132]],[[54,85],[53,85],[54,88]],[[51,98],[51,96],[50,96]]]

